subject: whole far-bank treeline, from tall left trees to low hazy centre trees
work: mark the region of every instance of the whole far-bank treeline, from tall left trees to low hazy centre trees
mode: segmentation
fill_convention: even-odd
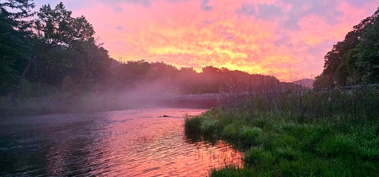
[[[96,41],[95,31],[84,16],[72,17],[63,3],[54,8],[45,5],[38,12],[33,8],[27,0],[0,3],[3,106],[42,97],[72,100],[87,93],[201,94],[294,87],[273,76],[227,68],[207,66],[198,73],[163,62],[121,63],[110,58]]]

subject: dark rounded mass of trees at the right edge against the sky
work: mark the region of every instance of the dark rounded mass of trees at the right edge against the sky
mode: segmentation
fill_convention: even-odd
[[[345,40],[325,55],[324,71],[314,87],[336,87],[379,82],[379,9],[353,27]]]

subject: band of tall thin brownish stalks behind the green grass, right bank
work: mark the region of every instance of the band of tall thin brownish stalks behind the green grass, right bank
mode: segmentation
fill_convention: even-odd
[[[225,94],[220,104],[233,117],[272,114],[290,117],[297,123],[379,121],[379,91],[355,89],[328,91],[254,92],[249,95]]]

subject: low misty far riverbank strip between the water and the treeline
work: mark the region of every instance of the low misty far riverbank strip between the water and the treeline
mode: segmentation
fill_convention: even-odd
[[[10,98],[0,97],[0,116],[41,115],[113,111],[143,108],[202,108],[210,109],[216,100],[180,100],[170,96],[141,96],[128,94],[55,93],[32,98],[20,98],[13,106]]]

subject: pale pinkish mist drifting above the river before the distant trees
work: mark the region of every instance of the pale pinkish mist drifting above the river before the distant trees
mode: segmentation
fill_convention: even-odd
[[[136,88],[125,88],[122,91],[110,93],[88,93],[86,99],[74,97],[80,100],[72,103],[77,112],[99,110],[122,110],[122,109],[147,109],[147,108],[202,108],[210,109],[218,104],[218,100],[209,99],[204,93],[181,94],[177,85],[158,79],[151,83],[144,83]],[[192,96],[199,95],[197,99]],[[188,96],[183,99],[183,96]],[[188,99],[189,98],[189,99]],[[70,100],[72,102],[72,100]],[[65,107],[64,103],[57,105]],[[58,109],[54,104],[51,109]],[[59,107],[59,106],[58,106]],[[59,111],[58,111],[59,112]],[[64,111],[61,111],[64,112]],[[67,112],[67,111],[66,111]]]

